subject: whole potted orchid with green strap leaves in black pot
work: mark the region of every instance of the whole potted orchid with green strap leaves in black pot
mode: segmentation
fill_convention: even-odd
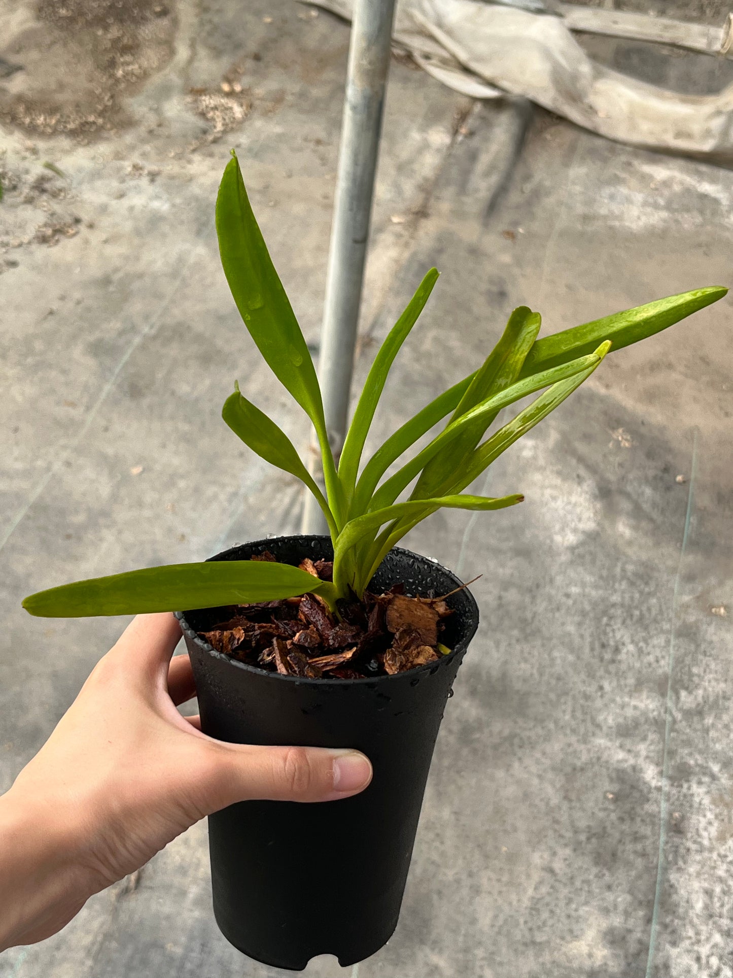
[[[334,458],[313,360],[234,154],[216,227],[243,324],[313,422],[325,492],[238,384],[224,421],[249,449],[307,486],[329,535],[269,538],[200,563],[65,584],[23,606],[54,617],[175,611],[204,733],[367,753],[374,777],[361,795],[300,807],[246,802],[209,822],[214,911],[225,936],[280,967],[303,968],[325,953],[346,965],[380,948],[397,924],[435,739],[478,624],[475,601],[449,570],[397,545],[440,509],[494,511],[522,502],[520,494],[489,498],[470,487],[609,352],[665,330],[726,289],[672,295],[543,337],[539,313],[520,306],[484,363],[365,461],[390,367],[437,282],[430,269],[377,352]],[[531,395],[494,429],[499,412]]]

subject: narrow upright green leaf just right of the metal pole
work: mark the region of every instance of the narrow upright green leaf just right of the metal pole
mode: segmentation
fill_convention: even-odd
[[[384,389],[384,383],[389,374],[389,369],[400,347],[407,339],[410,330],[417,322],[417,317],[422,312],[437,281],[438,270],[431,268],[417,287],[417,291],[410,299],[407,309],[387,334],[371,365],[367,382],[364,385],[359,403],[354,412],[354,418],[349,425],[338,464],[338,477],[341,480],[347,501],[351,499],[354,493],[357,474],[359,472],[359,463],[362,458],[365,442],[367,441],[369,426],[371,425],[376,406],[379,403],[379,398]]]

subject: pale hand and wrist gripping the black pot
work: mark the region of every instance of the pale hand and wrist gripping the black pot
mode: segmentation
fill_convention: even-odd
[[[223,743],[191,699],[171,614],[139,615],[45,745],[0,796],[0,951],[65,927],[93,894],[144,866],[194,822],[237,801],[316,802],[367,787],[353,750]]]

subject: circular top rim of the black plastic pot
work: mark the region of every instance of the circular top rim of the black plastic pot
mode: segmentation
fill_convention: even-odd
[[[229,550],[222,551],[222,554],[228,554],[230,551],[238,550],[239,547],[253,547],[258,544],[272,543],[274,540],[279,540],[283,538],[289,538],[289,539],[296,538],[296,537],[308,538],[310,536],[319,536],[319,534],[284,533],[280,537],[266,537],[265,539],[262,540],[250,540],[244,544],[236,544],[234,547],[230,547]],[[455,576],[452,570],[449,570],[448,567],[444,567],[442,563],[440,563],[438,560],[434,559],[433,557],[423,556],[422,554],[415,554],[413,551],[409,551],[404,547],[393,547],[390,553],[405,554],[406,556],[416,557],[418,560],[426,560],[428,563],[432,563],[440,567],[441,570],[445,571],[447,574],[453,577],[456,586],[459,587],[463,583]],[[186,636],[188,636],[188,638],[192,642],[194,642],[194,644],[197,645],[201,649],[201,651],[207,652],[213,658],[225,659],[231,666],[234,666],[237,669],[243,669],[245,672],[254,673],[257,676],[267,676],[273,681],[280,681],[283,683],[295,683],[296,686],[301,685],[301,686],[310,686],[313,687],[314,689],[323,689],[323,686],[327,684],[337,689],[345,689],[348,688],[349,686],[354,686],[357,684],[376,685],[377,683],[381,684],[381,683],[388,682],[389,680],[404,681],[406,677],[415,678],[418,676],[425,676],[428,675],[432,670],[436,669],[436,667],[441,668],[441,666],[443,666],[444,663],[448,663],[452,661],[455,655],[462,654],[470,644],[474,635],[476,634],[476,630],[478,628],[478,622],[479,622],[479,607],[478,604],[476,603],[476,599],[473,597],[473,594],[466,587],[463,588],[463,593],[468,598],[469,603],[472,605],[475,625],[473,627],[473,631],[471,631],[470,634],[465,639],[462,639],[460,642],[456,643],[456,645],[454,645],[454,647],[451,649],[448,655],[441,655],[440,659],[437,662],[429,662],[424,666],[417,666],[415,669],[408,669],[405,672],[396,673],[394,676],[389,676],[389,675],[364,676],[360,679],[325,679],[325,678],[311,679],[306,676],[282,676],[280,673],[271,673],[265,669],[259,669],[257,666],[251,666],[246,662],[240,662],[238,659],[233,659],[231,655],[226,655],[224,652],[218,652],[213,647],[213,645],[209,645],[208,642],[204,642],[202,639],[199,639],[198,636],[196,635],[195,630],[191,627],[191,625],[189,625],[188,621],[186,620],[186,612],[174,611],[173,614],[178,619],[181,625],[181,631]],[[197,610],[205,610],[205,609],[196,608],[195,610],[197,611]]]

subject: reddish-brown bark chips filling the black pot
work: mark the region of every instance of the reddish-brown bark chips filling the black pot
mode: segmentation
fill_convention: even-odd
[[[275,560],[266,552],[252,559]],[[330,580],[328,560],[300,564]],[[443,598],[409,598],[402,585],[365,600],[342,602],[338,621],[318,595],[240,604],[198,637],[219,652],[268,672],[307,679],[393,676],[436,662],[449,651],[439,642],[452,614]]]

